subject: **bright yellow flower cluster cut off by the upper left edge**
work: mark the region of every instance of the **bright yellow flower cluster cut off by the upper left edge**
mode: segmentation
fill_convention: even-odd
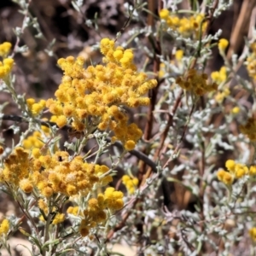
[[[14,66],[14,59],[7,58],[11,47],[12,44],[10,44],[9,42],[4,42],[3,44],[0,44],[0,56],[3,57],[3,61],[0,61],[0,79],[5,79],[6,76],[10,73],[12,67]]]

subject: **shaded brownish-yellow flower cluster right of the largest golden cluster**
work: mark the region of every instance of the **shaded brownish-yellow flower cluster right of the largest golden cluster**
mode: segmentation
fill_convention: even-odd
[[[184,78],[178,77],[176,79],[176,83],[184,90],[189,90],[197,96],[202,96],[209,91],[218,89],[218,84],[207,84],[207,79],[206,73],[199,74],[195,69],[189,69]]]

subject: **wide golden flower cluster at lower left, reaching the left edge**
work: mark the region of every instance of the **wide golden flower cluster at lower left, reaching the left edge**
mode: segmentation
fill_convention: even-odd
[[[87,195],[95,183],[106,185],[112,177],[102,174],[108,172],[107,166],[97,166],[84,162],[77,156],[69,160],[69,154],[57,151],[52,156],[42,155],[37,149],[34,158],[24,148],[15,148],[14,153],[5,160],[0,172],[2,182],[19,186],[26,193],[37,189],[45,198],[60,193],[62,195]]]

